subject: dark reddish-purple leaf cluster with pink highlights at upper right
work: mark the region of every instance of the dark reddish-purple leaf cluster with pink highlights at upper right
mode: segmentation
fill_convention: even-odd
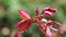
[[[42,11],[42,14],[45,14],[46,16],[52,16],[53,13],[56,13],[56,9],[54,9],[53,7],[47,7]]]

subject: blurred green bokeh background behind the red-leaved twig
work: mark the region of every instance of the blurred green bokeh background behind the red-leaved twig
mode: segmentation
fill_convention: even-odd
[[[13,26],[21,21],[18,14],[19,9],[24,9],[31,16],[35,16],[35,7],[38,7],[40,13],[42,13],[42,9],[48,5],[57,9],[57,13],[55,13],[51,20],[65,25],[66,0],[0,0],[0,37],[11,37],[11,35],[16,32]],[[22,36],[45,37],[35,23],[33,23]]]

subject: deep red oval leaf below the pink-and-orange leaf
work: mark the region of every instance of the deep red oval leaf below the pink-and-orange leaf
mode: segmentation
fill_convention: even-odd
[[[30,26],[31,26],[31,22],[30,21],[23,21],[20,24],[18,24],[19,27],[18,29],[21,30],[26,30]]]

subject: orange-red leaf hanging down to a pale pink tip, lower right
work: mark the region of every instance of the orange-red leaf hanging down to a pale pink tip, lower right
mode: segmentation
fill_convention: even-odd
[[[38,21],[37,24],[40,26],[41,32],[43,32],[43,34],[45,34],[46,37],[52,37],[52,32],[51,32],[50,27],[46,24],[44,24],[41,21]]]

